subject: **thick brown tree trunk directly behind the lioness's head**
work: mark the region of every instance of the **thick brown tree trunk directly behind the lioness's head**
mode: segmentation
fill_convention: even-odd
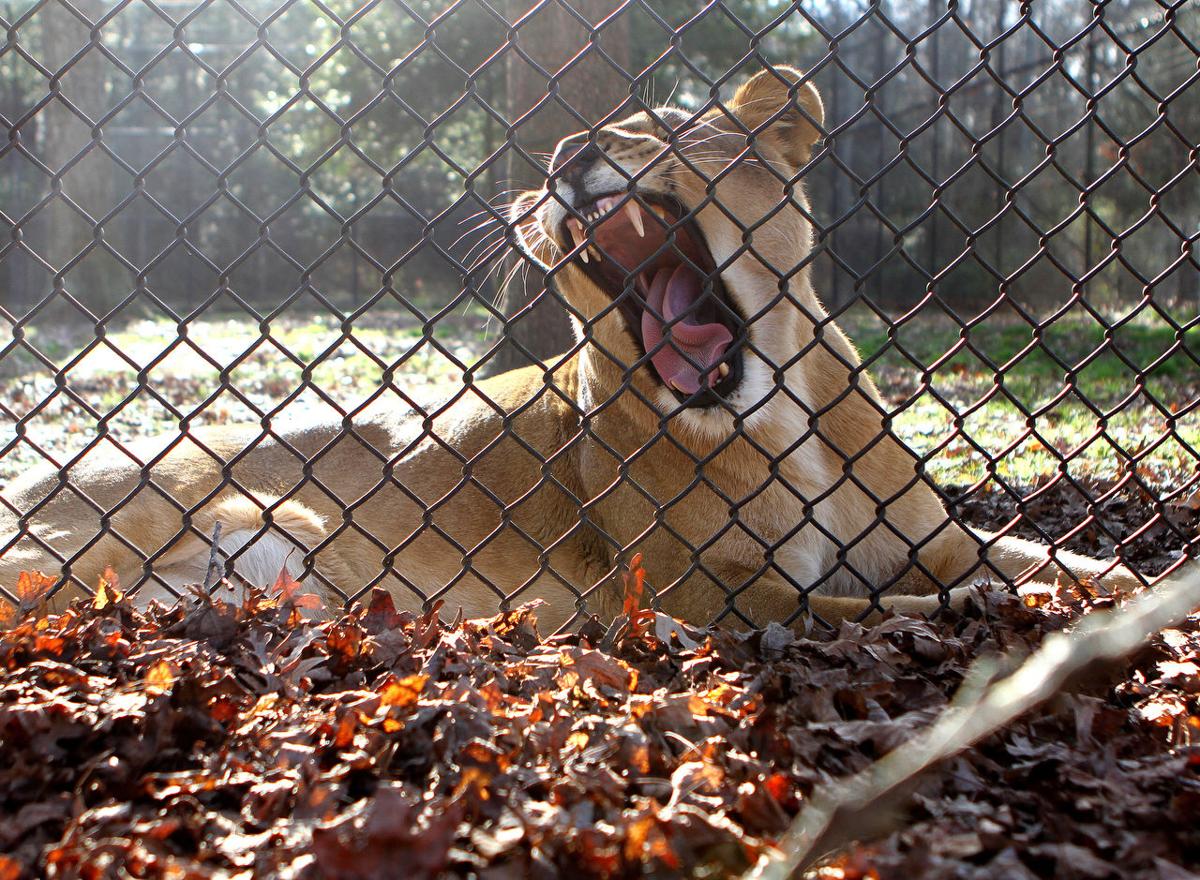
[[[592,29],[568,12],[566,5],[590,22]],[[551,152],[566,134],[602,124],[629,97],[629,77],[623,73],[630,65],[628,17],[618,16],[596,30],[596,25],[619,7],[618,0],[550,0],[540,6],[534,0],[510,0],[509,20],[521,22],[515,42],[533,64],[515,48],[509,49],[508,115],[516,126],[512,140],[521,150],[509,150],[508,186],[540,187],[546,175],[544,154]],[[589,46],[592,41],[596,46]],[[598,46],[604,47],[605,54],[622,70],[616,70]],[[564,71],[581,52],[583,56]],[[534,64],[546,73],[539,72]],[[559,73],[558,96],[575,114],[564,109],[558,100],[547,100],[552,89],[547,74]],[[630,71],[632,73],[636,71]],[[545,275],[533,267],[517,268],[503,298],[504,343],[486,372],[497,373],[552,359],[570,347],[572,335],[565,310],[546,285]],[[532,309],[523,311],[534,301]]]

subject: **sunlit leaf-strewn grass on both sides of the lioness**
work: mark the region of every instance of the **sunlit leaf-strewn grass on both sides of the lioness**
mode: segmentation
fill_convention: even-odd
[[[1189,409],[1200,396],[1200,327],[1193,318],[1176,330],[1147,311],[1111,330],[1068,313],[1037,334],[1013,316],[965,331],[922,315],[890,335],[865,309],[840,323],[896,431],[944,484],[995,472],[1031,485],[1063,468],[1112,477],[1136,456],[1145,475],[1180,485],[1195,473],[1200,449],[1200,417]],[[389,376],[384,399],[433,400],[487,351],[485,329],[481,315],[454,312],[426,340],[422,323],[402,310],[362,316],[353,339],[326,315],[276,318],[266,335],[245,316],[212,316],[190,322],[184,341],[169,321],[133,321],[103,339],[35,328],[30,346],[55,366],[22,346],[0,358],[0,485],[32,465],[68,460],[95,439],[101,420],[121,442],[184,421],[258,421],[280,407],[274,423],[286,426],[361,407]]]

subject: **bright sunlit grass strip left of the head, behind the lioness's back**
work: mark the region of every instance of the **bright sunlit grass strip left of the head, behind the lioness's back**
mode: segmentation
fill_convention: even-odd
[[[401,310],[364,316],[352,339],[328,315],[280,317],[265,334],[244,315],[211,316],[188,322],[182,340],[166,319],[109,328],[103,339],[88,328],[34,328],[28,347],[0,359],[0,486],[35,465],[68,461],[102,421],[127,443],[185,423],[258,423],[271,414],[286,427],[340,417],[370,408],[385,385],[384,397],[437,399],[486,351],[482,328],[478,315],[452,313],[425,339],[422,323]]]

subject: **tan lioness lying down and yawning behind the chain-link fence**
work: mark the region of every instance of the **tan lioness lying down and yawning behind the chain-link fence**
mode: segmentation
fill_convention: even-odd
[[[778,67],[698,119],[664,108],[564,139],[510,215],[578,334],[550,372],[427,412],[198,430],[164,454],[97,451],[65,481],[30,475],[5,493],[0,582],[38,569],[91,587],[110,564],[162,595],[204,579],[220,522],[257,583],[287,565],[314,589],[382,583],[467,615],[539,598],[554,627],[614,615],[634,552],[661,606],[697,623],[797,619],[805,595],[827,621],[930,611],[989,573],[1138,585],[950,522],[886,430],[809,281],[797,172],[822,119],[814,86]]]

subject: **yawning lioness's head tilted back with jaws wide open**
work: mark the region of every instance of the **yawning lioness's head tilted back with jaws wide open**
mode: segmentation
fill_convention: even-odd
[[[510,220],[596,370],[697,427],[772,393],[811,298],[797,172],[822,121],[816,89],[775,67],[702,114],[642,112],[558,144],[546,186]]]

